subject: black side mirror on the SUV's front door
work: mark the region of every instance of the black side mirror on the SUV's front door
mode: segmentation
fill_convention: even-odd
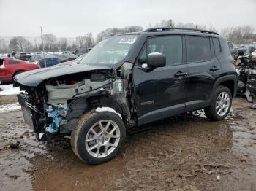
[[[153,52],[148,55],[148,66],[157,68],[166,65],[166,56],[159,52]]]

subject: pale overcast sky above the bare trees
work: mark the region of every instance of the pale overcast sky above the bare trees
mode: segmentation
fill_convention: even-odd
[[[169,18],[218,30],[256,29],[256,0],[0,0],[0,36],[39,36],[39,26],[58,37],[96,36],[105,28],[147,28]]]

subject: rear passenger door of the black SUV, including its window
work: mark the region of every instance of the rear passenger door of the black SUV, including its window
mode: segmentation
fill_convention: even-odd
[[[207,106],[222,69],[209,36],[186,36],[186,53],[189,68],[186,110],[189,112]]]

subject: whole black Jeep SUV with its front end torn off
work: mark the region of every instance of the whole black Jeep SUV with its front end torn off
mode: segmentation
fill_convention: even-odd
[[[15,77],[18,100],[37,139],[71,134],[80,160],[105,163],[127,128],[204,109],[222,120],[236,95],[226,39],[212,31],[150,28],[111,36],[80,63]]]

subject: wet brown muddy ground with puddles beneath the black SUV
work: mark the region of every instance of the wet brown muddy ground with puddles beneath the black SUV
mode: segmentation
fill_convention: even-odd
[[[221,122],[194,112],[131,130],[121,154],[97,166],[81,163],[69,139],[37,142],[20,111],[1,113],[0,190],[256,190],[250,105],[236,98]]]

